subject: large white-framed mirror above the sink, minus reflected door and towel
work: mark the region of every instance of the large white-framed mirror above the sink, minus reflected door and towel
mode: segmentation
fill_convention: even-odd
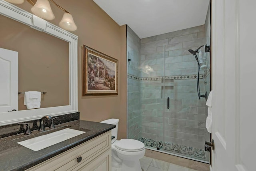
[[[0,125],[77,111],[78,37],[0,0],[0,48],[18,52],[18,111],[0,112]],[[27,109],[24,91],[47,92]]]

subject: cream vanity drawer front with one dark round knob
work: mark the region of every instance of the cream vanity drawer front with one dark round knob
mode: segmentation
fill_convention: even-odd
[[[52,157],[28,171],[70,170],[70,168],[78,167],[81,164],[86,165],[108,149],[111,149],[111,131]],[[77,162],[78,157],[82,157],[82,161],[79,163]]]

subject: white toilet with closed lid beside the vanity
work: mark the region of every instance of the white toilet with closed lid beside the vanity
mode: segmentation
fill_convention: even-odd
[[[144,143],[135,139],[120,139],[117,138],[119,119],[108,119],[101,123],[116,125],[116,128],[111,130],[112,133],[112,167],[122,168],[122,171],[142,171],[140,167],[140,159],[145,154]]]

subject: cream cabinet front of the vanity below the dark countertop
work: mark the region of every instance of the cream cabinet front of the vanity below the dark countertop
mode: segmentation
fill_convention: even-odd
[[[111,132],[108,131],[56,157],[36,165],[28,171],[95,170],[109,171],[111,161]]]

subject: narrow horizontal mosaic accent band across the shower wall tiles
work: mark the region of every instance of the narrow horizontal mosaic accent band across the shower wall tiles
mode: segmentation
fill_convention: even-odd
[[[130,74],[127,74],[127,78],[131,78],[133,80],[140,80],[140,81],[158,81],[162,79],[174,79],[174,80],[191,80],[197,79],[197,75],[185,75],[185,76],[166,76],[166,77],[146,77],[146,78],[139,78]],[[204,78],[204,74],[199,75],[199,79]]]

